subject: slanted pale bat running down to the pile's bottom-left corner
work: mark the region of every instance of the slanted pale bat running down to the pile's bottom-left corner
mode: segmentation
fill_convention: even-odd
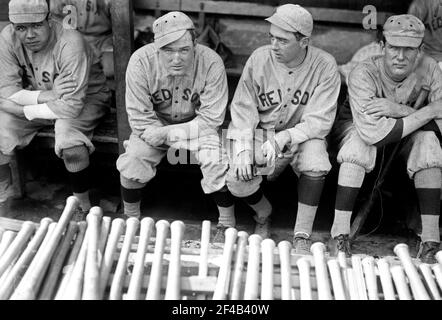
[[[4,281],[0,283],[0,300],[6,300],[10,297],[14,291],[14,284],[22,277],[28,268],[52,222],[50,218],[43,218],[40,221],[40,226],[25,251],[21,254]]]

